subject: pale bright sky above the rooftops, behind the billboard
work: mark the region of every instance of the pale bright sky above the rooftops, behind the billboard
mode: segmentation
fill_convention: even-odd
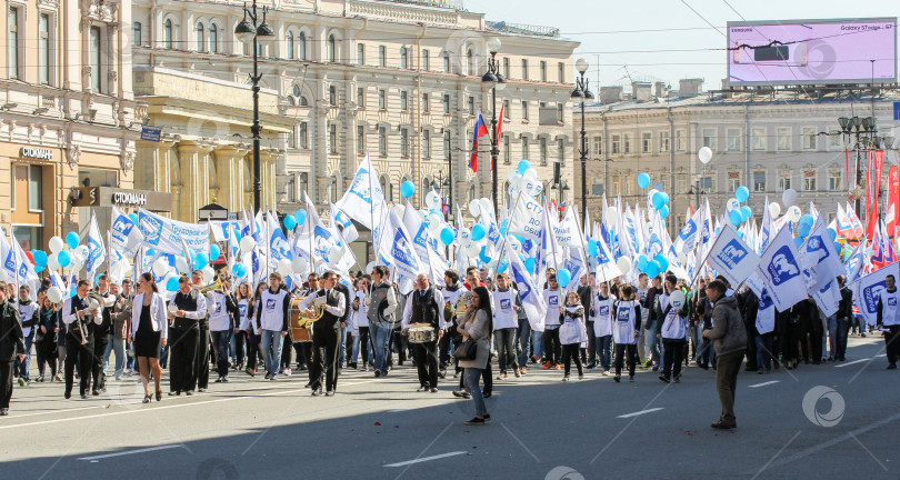
[[[886,0],[467,0],[466,8],[487,13],[488,20],[557,27],[563,37],[580,41],[576,58],[590,62],[594,90],[598,79],[601,86],[627,86],[629,77],[676,88],[681,78],[703,78],[707,89],[720,88],[728,21],[900,13],[900,3]],[[626,32],[634,30],[641,31]]]

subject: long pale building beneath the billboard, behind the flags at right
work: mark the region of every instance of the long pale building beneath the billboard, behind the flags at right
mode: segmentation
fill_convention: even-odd
[[[806,210],[814,201],[830,221],[836,204],[856,187],[858,152],[866,166],[856,136],[841,133],[840,117],[876,117],[877,136],[888,139],[882,177],[897,164],[893,138],[900,122],[893,120],[893,102],[900,91],[876,89],[872,101],[867,88],[701,92],[699,87],[697,79],[682,80],[672,92],[636,84],[631,98],[623,98],[621,88],[601,90],[601,102],[588,107],[586,120],[592,218],[601,213],[604,192],[608,199],[646,204],[638,176],[647,172],[650,188],[670,194],[672,230],[683,224],[689,207],[706,200],[722,214],[741,186],[751,192],[747,204],[757,220],[767,198],[780,203],[784,190],[793,188],[798,204]],[[580,136],[580,120],[574,127]],[[702,147],[713,151],[708,164],[698,158]]]

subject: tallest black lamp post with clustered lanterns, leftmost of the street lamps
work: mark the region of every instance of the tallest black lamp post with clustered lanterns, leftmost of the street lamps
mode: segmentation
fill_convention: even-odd
[[[253,203],[257,211],[262,209],[262,166],[260,162],[259,142],[262,126],[259,123],[259,46],[274,40],[276,33],[269,23],[266,22],[267,7],[262,8],[262,18],[257,13],[257,0],[250,10],[247,4],[243,7],[243,20],[234,28],[234,36],[243,43],[248,43],[253,49],[253,73],[250,74],[250,82],[253,86],[253,126],[250,131],[253,134]]]

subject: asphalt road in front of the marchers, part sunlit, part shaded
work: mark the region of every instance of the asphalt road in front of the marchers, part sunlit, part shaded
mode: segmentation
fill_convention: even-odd
[[[563,383],[532,369],[494,382],[484,427],[462,424],[472,406],[450,394],[452,379],[418,393],[409,367],[386,379],[344,370],[333,398],[310,397],[306,372],[236,373],[150,406],[137,378],[88,400],[17,384],[0,478],[898,478],[900,370],[884,370],[880,339],[850,343],[843,363],[741,372],[738,429],[726,432],[710,428],[714,372],[698,368],[677,384],[652,371]]]

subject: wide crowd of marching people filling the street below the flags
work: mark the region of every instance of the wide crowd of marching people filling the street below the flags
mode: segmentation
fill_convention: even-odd
[[[767,332],[757,327],[760,299],[742,286],[732,290],[721,277],[700,278],[691,288],[673,276],[641,273],[636,284],[627,284],[591,273],[573,288],[561,286],[548,268],[542,319],[528,318],[506,273],[492,277],[471,267],[463,277],[447,270],[441,288],[432,280],[419,274],[413,290],[401,294],[383,266],[343,281],[333,271],[313,273],[290,290],[277,272],[253,287],[232,284],[226,272],[217,284],[204,286],[202,272],[194,271],[168,293],[151,273],[140,276],[137,286],[101,276],[93,289],[80,280],[60,304],[46,294],[49,281],[33,296],[27,286],[17,291],[6,283],[0,286],[0,414],[9,412],[13,381],[20,387],[61,382],[69,399],[78,380],[78,393],[87,399],[104,394],[107,374],[116,380],[139,374],[142,401],[149,403],[163,398],[163,369],[168,396],[206,391],[211,373],[220,383],[240,372],[267,381],[300,376],[312,396],[332,397],[342,369],[383,378],[409,362],[420,392],[437,393],[441,380],[459,379],[451,381],[451,393],[476,406],[466,423],[483,424],[490,420],[484,399],[494,381],[527,376],[529,369],[557,370],[569,381],[574,367],[579,380],[594,370],[616,382],[623,370],[633,382],[636,371],[647,369],[662,382],[678,383],[693,363],[717,370],[722,414],[712,427],[729,429],[737,426],[734,384],[742,366],[766,374],[842,362],[848,336],[864,337],[867,330],[853,316],[842,278],[837,313],[826,316],[808,299],[777,312],[774,329]],[[887,283],[874,329],[884,336],[888,368],[894,369],[900,294],[892,276]],[[310,338],[294,342],[289,331],[300,318],[316,320]]]

